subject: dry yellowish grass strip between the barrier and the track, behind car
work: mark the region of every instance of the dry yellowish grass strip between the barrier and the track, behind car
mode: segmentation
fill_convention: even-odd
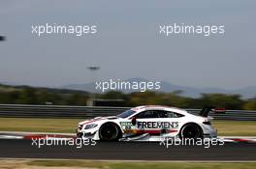
[[[0,130],[75,132],[82,119],[0,118]],[[256,136],[256,122],[213,121],[219,135]]]

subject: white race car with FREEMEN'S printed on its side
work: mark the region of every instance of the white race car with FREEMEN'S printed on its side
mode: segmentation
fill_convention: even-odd
[[[165,137],[215,138],[208,117],[213,107],[204,107],[198,115],[176,107],[145,105],[117,116],[97,117],[79,123],[77,136],[103,141],[160,141]]]

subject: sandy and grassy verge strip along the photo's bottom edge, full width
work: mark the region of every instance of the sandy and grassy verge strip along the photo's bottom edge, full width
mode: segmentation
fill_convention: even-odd
[[[256,162],[149,162],[149,161],[89,161],[89,160],[0,160],[0,168],[108,168],[108,169],[255,169]]]

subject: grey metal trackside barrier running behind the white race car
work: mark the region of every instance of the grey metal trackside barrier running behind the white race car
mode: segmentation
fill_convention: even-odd
[[[114,116],[130,107],[66,106],[0,104],[0,117],[18,118],[93,118]],[[186,109],[197,114],[200,109]],[[227,110],[225,113],[209,113],[216,120],[256,121],[256,111]]]

